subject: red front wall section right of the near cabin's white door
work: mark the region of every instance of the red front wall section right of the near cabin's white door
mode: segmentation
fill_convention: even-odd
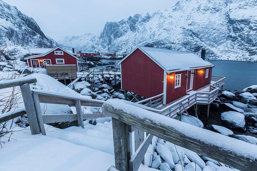
[[[206,69],[209,69],[208,78],[205,78],[205,71]],[[211,81],[211,67],[209,68],[203,68],[194,70],[194,83],[193,83],[193,90],[197,90],[199,88],[202,88],[206,85],[208,85]],[[200,71],[203,71],[203,73],[200,73]]]

